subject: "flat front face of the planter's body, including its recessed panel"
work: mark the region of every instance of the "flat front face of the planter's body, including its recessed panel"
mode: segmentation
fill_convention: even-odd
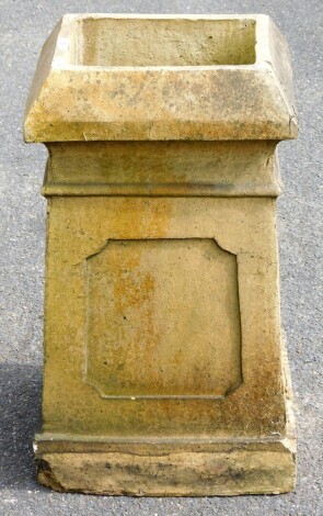
[[[285,435],[275,202],[54,198],[44,431]]]

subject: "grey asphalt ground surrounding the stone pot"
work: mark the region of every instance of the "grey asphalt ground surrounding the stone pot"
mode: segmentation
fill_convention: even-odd
[[[41,47],[67,12],[267,13],[286,35],[300,136],[279,144],[281,318],[298,422],[296,493],[209,498],[59,494],[36,482],[46,150],[25,145],[23,110]],[[323,515],[322,3],[308,1],[0,0],[0,515]]]

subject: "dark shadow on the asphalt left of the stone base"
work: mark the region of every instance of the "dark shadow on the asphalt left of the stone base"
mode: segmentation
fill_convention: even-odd
[[[0,364],[0,485],[34,486],[33,437],[41,428],[42,368]]]

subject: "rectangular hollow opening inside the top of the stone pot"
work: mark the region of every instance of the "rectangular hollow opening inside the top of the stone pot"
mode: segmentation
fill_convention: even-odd
[[[255,61],[254,20],[84,19],[80,65],[212,66]]]

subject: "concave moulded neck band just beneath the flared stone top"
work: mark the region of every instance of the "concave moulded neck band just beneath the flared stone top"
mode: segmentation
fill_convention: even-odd
[[[262,141],[50,143],[43,193],[277,197],[276,145]]]

